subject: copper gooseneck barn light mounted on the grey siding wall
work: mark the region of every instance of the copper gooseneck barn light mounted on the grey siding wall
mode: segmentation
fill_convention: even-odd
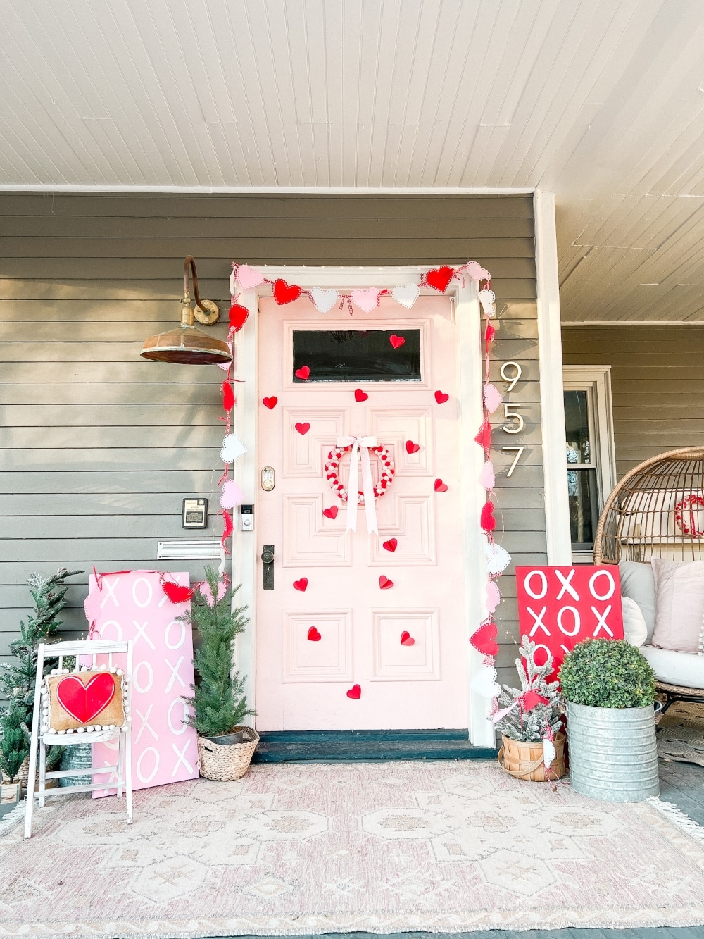
[[[195,307],[191,307],[191,274]],[[180,365],[221,365],[232,362],[232,352],[226,343],[207,336],[193,326],[197,319],[204,326],[217,323],[220,310],[212,300],[201,300],[198,293],[198,275],[195,261],[189,254],[183,262],[183,305],[181,325],[168,332],[160,332],[145,340],[140,353],[152,362],[177,362]]]

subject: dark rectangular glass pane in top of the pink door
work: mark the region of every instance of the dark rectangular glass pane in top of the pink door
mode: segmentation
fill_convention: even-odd
[[[394,348],[392,335],[404,338]],[[296,372],[307,365],[308,379]],[[420,330],[295,330],[293,380],[421,381]]]

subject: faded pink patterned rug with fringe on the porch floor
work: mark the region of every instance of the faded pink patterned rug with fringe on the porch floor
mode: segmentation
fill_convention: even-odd
[[[694,827],[491,763],[257,765],[123,805],[60,796],[0,839],[0,936],[704,923]]]

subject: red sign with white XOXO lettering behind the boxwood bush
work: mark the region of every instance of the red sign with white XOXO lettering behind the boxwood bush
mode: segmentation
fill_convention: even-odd
[[[516,567],[521,636],[532,639],[535,661],[555,657],[552,681],[562,660],[584,639],[623,639],[619,568]]]

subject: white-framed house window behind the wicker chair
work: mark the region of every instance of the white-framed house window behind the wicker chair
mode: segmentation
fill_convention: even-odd
[[[590,562],[604,501],[616,484],[610,365],[566,365],[565,454],[573,561]]]

